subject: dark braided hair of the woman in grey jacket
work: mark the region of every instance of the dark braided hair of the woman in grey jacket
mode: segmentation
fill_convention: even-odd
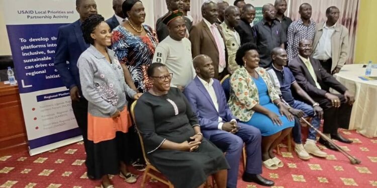
[[[96,27],[100,25],[101,22],[105,22],[104,17],[101,15],[91,15],[84,20],[84,22],[81,24],[81,31],[85,43],[91,45],[94,44],[94,40],[91,38],[90,34],[94,32]]]

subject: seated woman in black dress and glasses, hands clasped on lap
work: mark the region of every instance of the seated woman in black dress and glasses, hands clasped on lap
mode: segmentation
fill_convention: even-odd
[[[223,152],[203,138],[197,116],[177,88],[170,88],[172,74],[154,63],[147,71],[152,88],[136,103],[136,125],[150,162],[176,188],[203,187],[214,175],[225,188],[228,163]]]

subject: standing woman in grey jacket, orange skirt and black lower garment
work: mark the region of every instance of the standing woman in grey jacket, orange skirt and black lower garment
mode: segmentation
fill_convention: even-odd
[[[101,15],[88,17],[81,25],[86,49],[77,62],[82,94],[88,100],[88,140],[94,169],[90,172],[101,179],[101,186],[113,187],[109,174],[120,174],[126,182],[136,182],[136,176],[124,163],[125,133],[132,125],[127,110],[126,95],[137,99],[141,94],[132,90],[124,79],[123,69],[111,45],[111,30]],[[88,172],[89,173],[89,172]]]

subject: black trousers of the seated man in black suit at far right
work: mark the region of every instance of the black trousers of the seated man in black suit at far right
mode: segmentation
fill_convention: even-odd
[[[352,106],[346,103],[343,95],[334,94],[340,99],[340,107],[332,107],[331,101],[327,98],[314,98],[323,109],[323,133],[337,134],[338,128],[348,129],[351,118]]]

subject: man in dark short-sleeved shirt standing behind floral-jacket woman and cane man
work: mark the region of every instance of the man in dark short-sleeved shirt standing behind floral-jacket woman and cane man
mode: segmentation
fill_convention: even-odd
[[[276,47],[284,48],[287,36],[281,24],[275,20],[276,9],[273,5],[264,5],[262,12],[263,20],[252,27],[252,32],[258,47],[259,67],[268,68],[272,62],[272,49]]]

